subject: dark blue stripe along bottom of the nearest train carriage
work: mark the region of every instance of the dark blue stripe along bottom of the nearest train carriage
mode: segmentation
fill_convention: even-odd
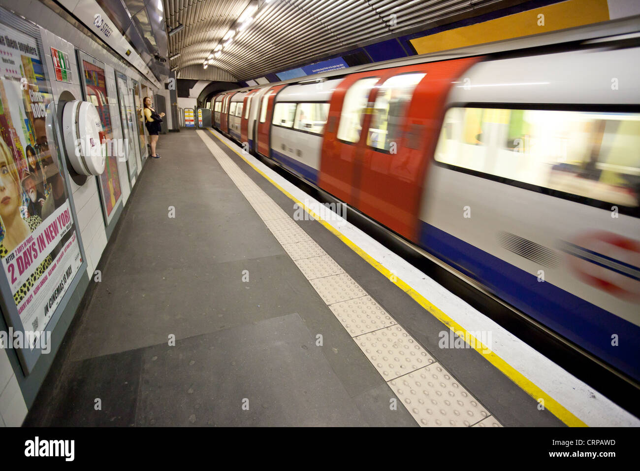
[[[640,327],[422,221],[420,246],[586,351],[640,380]],[[611,345],[612,335],[618,345]]]

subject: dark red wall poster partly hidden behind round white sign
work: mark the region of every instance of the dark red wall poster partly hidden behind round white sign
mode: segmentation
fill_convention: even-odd
[[[104,76],[104,69],[83,59],[84,69],[84,89],[86,90],[86,101],[90,101],[98,108],[104,137],[109,141],[113,140],[113,123],[111,113],[109,113],[109,101],[107,97],[107,85]],[[109,146],[107,146],[109,149]],[[113,209],[120,200],[120,176],[118,175],[117,156],[113,152],[107,154],[104,172],[100,175],[100,189],[102,191],[102,204],[109,220]]]

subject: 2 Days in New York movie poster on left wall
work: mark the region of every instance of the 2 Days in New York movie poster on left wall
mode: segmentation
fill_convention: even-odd
[[[25,333],[45,330],[82,264],[49,104],[35,39],[0,24],[0,283]]]

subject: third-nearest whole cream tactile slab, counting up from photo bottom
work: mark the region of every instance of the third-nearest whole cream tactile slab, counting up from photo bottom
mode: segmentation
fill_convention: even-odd
[[[371,296],[336,302],[329,309],[352,337],[397,324]]]

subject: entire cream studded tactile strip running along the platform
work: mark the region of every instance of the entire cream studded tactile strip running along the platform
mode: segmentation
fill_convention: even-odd
[[[197,132],[201,137],[204,135],[202,131]],[[203,140],[263,220],[268,214],[277,213],[275,207],[270,206],[277,206],[275,202],[255,185],[217,144],[204,137]],[[323,274],[323,270],[330,270],[330,267],[335,269],[339,265],[292,219],[289,219],[289,222],[278,223],[282,220],[285,219],[275,218],[264,222],[276,238],[278,231],[284,239],[306,236],[300,242],[294,243],[282,242],[280,238],[278,240],[420,426],[501,427],[500,423],[489,415],[449,372],[435,363],[429,352],[404,331],[403,327],[399,326],[348,274],[343,272],[310,279],[311,276]],[[325,266],[317,267],[314,258],[325,260]],[[386,327],[386,323],[392,325]],[[367,333],[358,335],[358,330],[366,330]]]

